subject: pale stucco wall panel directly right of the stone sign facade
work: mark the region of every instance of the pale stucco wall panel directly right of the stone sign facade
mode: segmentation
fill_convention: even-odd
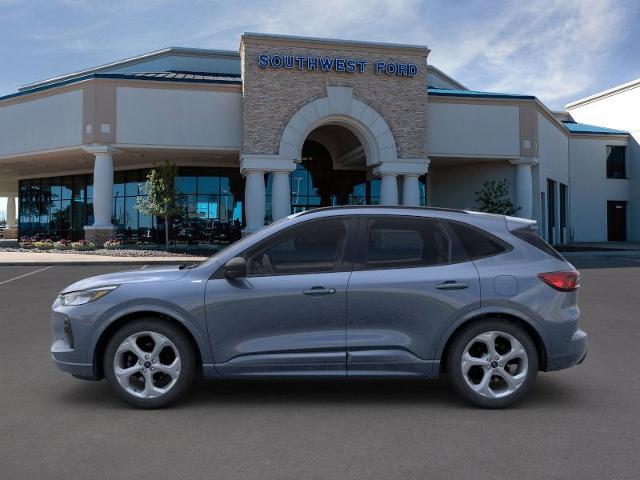
[[[517,106],[429,102],[428,123],[429,155],[520,155]]]

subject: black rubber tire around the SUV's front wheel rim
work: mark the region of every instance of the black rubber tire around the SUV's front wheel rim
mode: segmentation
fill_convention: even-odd
[[[140,398],[127,392],[118,382],[114,371],[116,351],[122,342],[135,333],[146,331],[167,337],[180,356],[180,373],[174,385],[166,393],[154,398]],[[193,382],[196,370],[195,352],[187,336],[171,322],[158,318],[135,320],[116,331],[107,343],[102,365],[111,390],[129,405],[145,409],[162,408],[181,398]]]

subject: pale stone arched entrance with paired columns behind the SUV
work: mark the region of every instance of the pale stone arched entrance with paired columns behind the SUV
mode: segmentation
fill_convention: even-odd
[[[398,158],[389,125],[352,88],[328,86],[289,119],[276,154],[241,155],[245,232],[320,206],[420,205],[427,168],[426,159]]]

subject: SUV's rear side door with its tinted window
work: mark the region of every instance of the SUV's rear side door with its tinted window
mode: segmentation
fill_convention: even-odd
[[[445,222],[361,222],[347,306],[348,375],[428,376],[454,319],[480,304],[478,272]]]

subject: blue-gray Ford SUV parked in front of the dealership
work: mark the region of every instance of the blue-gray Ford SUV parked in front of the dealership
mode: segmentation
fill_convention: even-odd
[[[579,274],[534,222],[466,211],[336,207],[291,215],[195,266],[88,278],[53,304],[56,365],[141,408],[196,375],[446,374],[504,407],[539,370],[580,363]]]

